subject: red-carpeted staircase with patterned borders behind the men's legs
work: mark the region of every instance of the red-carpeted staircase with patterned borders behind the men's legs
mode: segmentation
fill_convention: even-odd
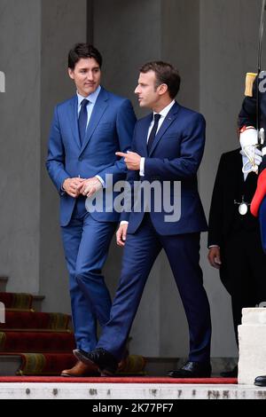
[[[0,277],[0,303],[5,305],[0,376],[59,376],[76,363],[71,317],[42,312],[42,295],[5,292],[7,280]],[[144,368],[145,358],[129,355],[120,374],[144,374]]]

